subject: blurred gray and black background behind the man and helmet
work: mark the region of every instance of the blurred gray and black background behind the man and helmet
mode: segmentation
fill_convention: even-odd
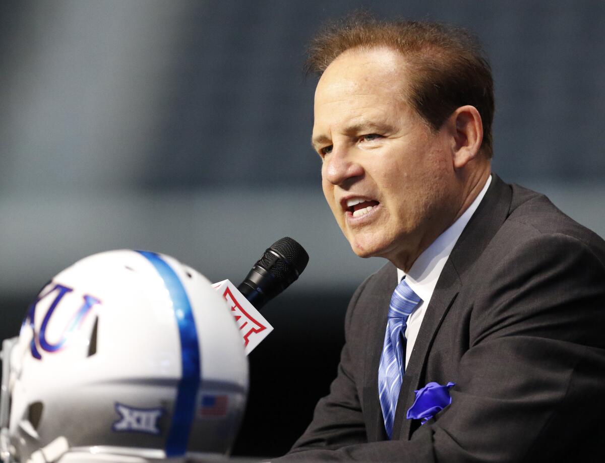
[[[240,282],[292,236],[310,264],[267,305],[236,455],[286,452],[328,391],[356,257],[310,149],[307,40],[358,7],[470,28],[491,58],[494,170],[605,236],[605,2],[0,3],[0,337],[97,251],[171,254]]]

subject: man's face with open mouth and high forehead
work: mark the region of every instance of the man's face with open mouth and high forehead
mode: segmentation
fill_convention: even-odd
[[[353,251],[401,268],[451,224],[458,199],[451,134],[405,102],[407,72],[396,51],[346,51],[319,80],[313,126],[325,199]]]

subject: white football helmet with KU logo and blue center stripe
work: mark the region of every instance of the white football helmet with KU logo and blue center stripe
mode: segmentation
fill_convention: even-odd
[[[109,251],[59,273],[2,352],[3,462],[185,461],[229,452],[247,359],[200,273]]]

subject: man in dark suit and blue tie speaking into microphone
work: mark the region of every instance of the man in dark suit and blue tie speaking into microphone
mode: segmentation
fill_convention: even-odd
[[[354,18],[309,68],[325,198],[353,251],[389,262],[284,459],[604,461],[605,243],[491,172],[479,45]]]

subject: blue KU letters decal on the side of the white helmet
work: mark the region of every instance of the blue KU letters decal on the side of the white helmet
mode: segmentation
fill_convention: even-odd
[[[70,334],[74,330],[79,328],[80,325],[82,325],[82,322],[86,318],[88,312],[90,312],[90,309],[93,308],[94,305],[100,303],[100,300],[97,299],[96,297],[88,296],[88,294],[84,294],[82,296],[82,299],[83,299],[82,305],[80,305],[80,307],[74,311],[73,316],[71,316],[71,319],[68,320],[65,327],[61,331],[59,339],[56,340],[56,342],[50,342],[46,337],[48,323],[50,322],[50,319],[53,316],[53,313],[56,310],[59,303],[62,300],[64,300],[65,295],[68,293],[71,293],[71,291],[73,291],[72,288],[68,288],[67,286],[60,285],[59,283],[55,283],[54,286],[50,288],[50,290],[48,290],[44,294],[41,293],[38,296],[38,299],[36,299],[30,305],[30,308],[27,311],[27,316],[25,317],[25,320],[23,321],[22,327],[29,325],[33,331],[33,338],[31,339],[30,347],[31,347],[31,355],[33,355],[34,358],[38,358],[38,360],[40,360],[42,358],[42,355],[40,354],[39,349],[42,349],[43,351],[50,352],[50,353],[57,352],[60,349],[62,349],[65,346],[65,343],[67,342]],[[54,297],[54,299],[50,303],[50,306],[48,306],[48,309],[42,319],[42,324],[40,325],[40,329],[38,330],[38,329],[36,329],[36,308],[38,307],[41,300],[47,299],[50,297]]]

